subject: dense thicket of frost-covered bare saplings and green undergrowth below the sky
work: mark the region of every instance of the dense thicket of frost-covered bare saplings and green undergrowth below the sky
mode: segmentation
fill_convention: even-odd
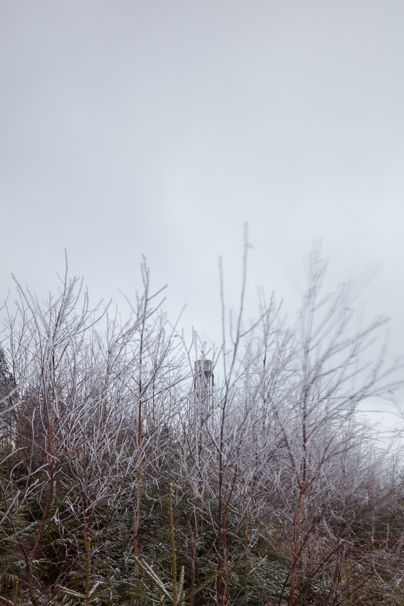
[[[402,465],[356,413],[400,362],[363,363],[385,319],[357,321],[360,282],[321,299],[325,268],[314,252],[294,328],[271,300],[246,330],[241,302],[216,352],[187,347],[145,266],[125,323],[76,279],[45,303],[18,287],[1,604],[404,604]]]

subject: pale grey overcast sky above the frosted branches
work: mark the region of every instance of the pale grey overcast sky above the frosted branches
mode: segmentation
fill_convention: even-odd
[[[141,255],[173,317],[219,337],[249,224],[256,285],[285,296],[323,238],[331,278],[403,350],[404,2],[1,0],[1,285],[63,270],[133,296]],[[119,298],[119,295],[118,295]],[[287,307],[289,305],[290,307]]]

